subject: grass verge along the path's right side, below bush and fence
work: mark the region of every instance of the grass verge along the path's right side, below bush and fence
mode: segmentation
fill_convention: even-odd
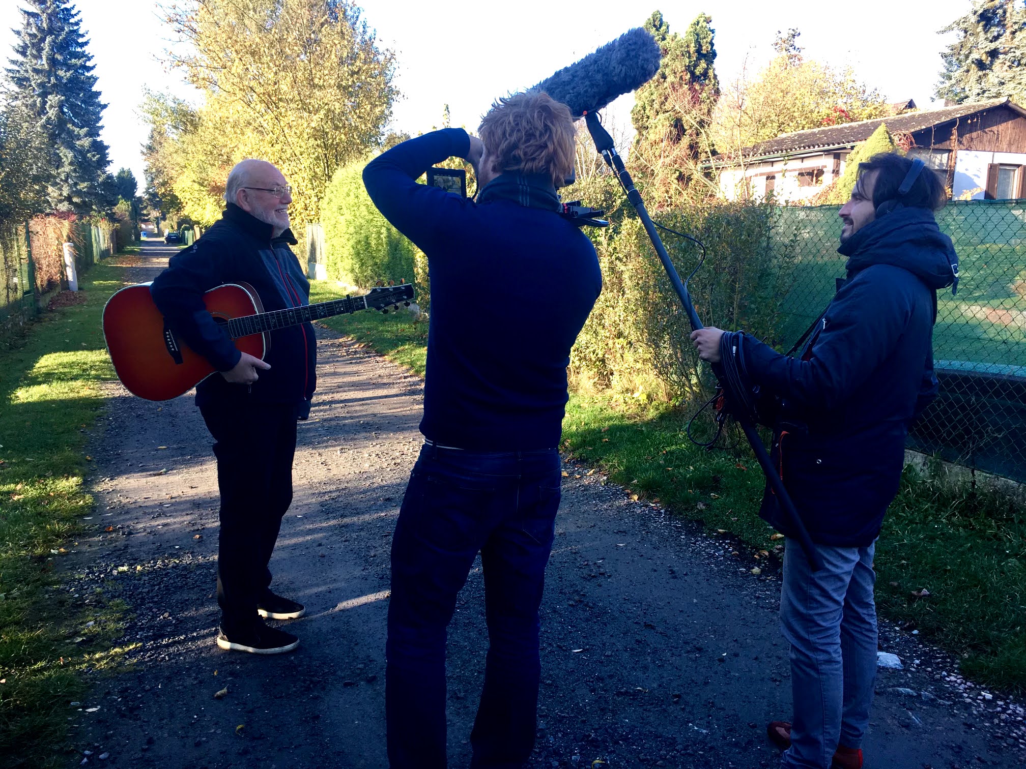
[[[318,282],[321,300],[338,295]],[[327,324],[424,373],[427,324],[360,313]],[[563,449],[601,467],[628,494],[656,500],[742,543],[757,566],[779,549],[757,512],[763,477],[746,452],[705,451],[684,434],[687,415],[660,406],[618,408],[571,394]],[[1026,691],[1026,510],[1005,491],[974,486],[939,467],[906,468],[876,550],[881,612],[958,655],[962,671],[997,689]],[[920,598],[925,589],[929,597]]]

